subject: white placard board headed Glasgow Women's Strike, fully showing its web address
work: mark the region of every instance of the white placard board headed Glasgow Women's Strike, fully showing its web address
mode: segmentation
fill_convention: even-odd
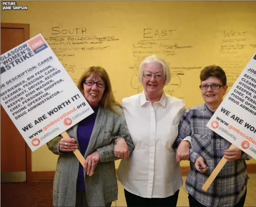
[[[1,104],[32,151],[93,113],[41,34],[0,59]]]

